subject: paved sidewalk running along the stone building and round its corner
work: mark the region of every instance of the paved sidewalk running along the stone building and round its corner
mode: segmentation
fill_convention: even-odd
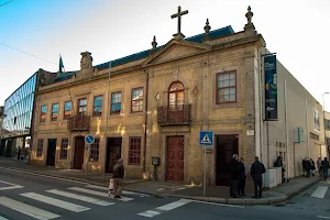
[[[100,174],[88,174],[86,176],[81,170],[56,169],[50,166],[29,165],[26,162],[8,157],[0,157],[0,168],[9,168],[30,174],[85,182],[99,186],[108,186],[111,177],[111,175],[106,175],[105,180],[102,180],[102,176]],[[283,184],[272,190],[265,190],[263,193],[263,198],[261,199],[253,199],[252,191],[246,191],[248,196],[244,198],[230,198],[228,187],[207,187],[206,197],[204,197],[204,189],[201,186],[152,182],[144,180],[142,178],[125,178],[124,189],[142,194],[150,194],[157,197],[177,197],[228,205],[271,205],[283,202],[315,185],[319,180],[321,180],[321,178],[318,176],[310,178],[302,176],[296,177],[289,183]]]

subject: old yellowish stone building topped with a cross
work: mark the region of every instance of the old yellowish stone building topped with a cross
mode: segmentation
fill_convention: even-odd
[[[179,8],[174,16],[186,13]],[[235,153],[248,167],[255,155],[272,167],[279,155],[274,143],[288,143],[287,135],[270,132],[270,125],[288,128],[283,122],[283,92],[278,89],[278,117],[264,121],[263,56],[268,52],[250,7],[245,16],[243,31],[231,26],[210,31],[207,20],[205,33],[191,37],[185,37],[178,23],[167,44],[157,46],[154,37],[151,50],[96,66],[91,53],[81,53],[80,70],[58,75],[38,88],[32,162],[111,173],[122,157],[127,176],[156,174],[158,180],[199,184],[204,175],[199,133],[211,131],[208,184],[229,184],[229,163]],[[289,89],[295,90],[299,82],[285,74],[278,78],[289,77]],[[309,100],[315,99],[309,95]],[[90,146],[84,141],[87,134],[96,138]],[[156,172],[154,157],[160,158]]]

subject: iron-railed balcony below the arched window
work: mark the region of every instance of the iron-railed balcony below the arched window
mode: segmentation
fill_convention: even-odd
[[[191,122],[191,105],[158,107],[157,116],[161,127],[189,125]]]

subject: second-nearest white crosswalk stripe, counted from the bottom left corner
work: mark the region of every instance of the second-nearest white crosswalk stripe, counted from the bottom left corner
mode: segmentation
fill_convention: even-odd
[[[54,199],[47,196],[43,196],[40,194],[35,194],[35,193],[26,193],[26,194],[20,194],[21,196],[37,200],[37,201],[42,201],[48,205],[53,205],[69,211],[74,211],[74,212],[80,212],[80,211],[86,211],[89,210],[90,208],[87,207],[82,207],[82,206],[78,206],[72,202],[67,202],[67,201],[63,201],[59,199]]]

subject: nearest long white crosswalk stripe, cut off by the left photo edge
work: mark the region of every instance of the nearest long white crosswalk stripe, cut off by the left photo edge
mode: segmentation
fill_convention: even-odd
[[[50,211],[45,211],[7,197],[0,197],[0,205],[40,220],[48,220],[61,217]]]

